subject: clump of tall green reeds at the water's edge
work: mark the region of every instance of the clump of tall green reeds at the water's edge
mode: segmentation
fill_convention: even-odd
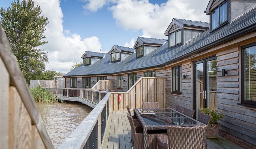
[[[35,102],[47,104],[58,102],[57,98],[54,96],[53,93],[41,86],[30,89],[30,93],[33,96]]]

